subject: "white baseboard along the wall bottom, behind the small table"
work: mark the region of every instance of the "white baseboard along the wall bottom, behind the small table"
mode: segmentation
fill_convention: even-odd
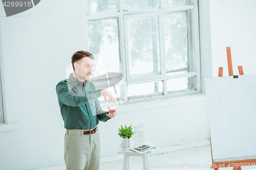
[[[195,142],[195,143],[180,144],[180,145],[175,145],[172,147],[160,148],[158,150],[152,151],[152,154],[150,154],[150,155],[162,154],[162,153],[166,153],[166,152],[170,152],[170,151],[183,150],[183,149],[187,149],[187,148],[201,147],[201,146],[209,145],[209,144],[210,144],[209,140],[204,140],[204,141]],[[136,157],[134,157],[134,158],[136,158]],[[119,160],[123,160],[123,154],[100,158],[100,163],[119,161]],[[66,169],[66,165],[60,164],[60,165],[55,165],[55,166],[51,166],[51,167],[38,168],[37,170],[65,170],[65,169]],[[30,169],[30,170],[32,170],[32,169]]]

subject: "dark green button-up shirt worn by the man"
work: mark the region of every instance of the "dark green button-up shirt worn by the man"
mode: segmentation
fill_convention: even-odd
[[[100,90],[95,89],[91,81],[84,83],[70,74],[69,78],[56,85],[60,113],[66,129],[93,129],[99,120],[106,122],[111,119],[108,111],[103,111],[98,98]]]

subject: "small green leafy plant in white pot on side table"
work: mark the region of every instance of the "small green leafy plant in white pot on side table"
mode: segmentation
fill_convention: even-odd
[[[134,135],[134,132],[132,130],[132,125],[129,127],[126,127],[126,125],[123,126],[121,125],[121,129],[119,128],[118,135],[121,137],[121,142],[122,142],[122,149],[126,150],[126,147],[130,147],[130,138]]]

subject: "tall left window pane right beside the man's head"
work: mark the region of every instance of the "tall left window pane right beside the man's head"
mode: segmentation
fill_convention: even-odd
[[[106,72],[122,74],[117,18],[88,21],[88,34],[89,52],[95,57],[93,77]]]

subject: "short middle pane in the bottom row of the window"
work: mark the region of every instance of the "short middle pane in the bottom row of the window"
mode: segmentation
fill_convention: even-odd
[[[145,99],[147,96],[158,95],[162,93],[162,81],[127,85],[127,96],[129,99]]]

